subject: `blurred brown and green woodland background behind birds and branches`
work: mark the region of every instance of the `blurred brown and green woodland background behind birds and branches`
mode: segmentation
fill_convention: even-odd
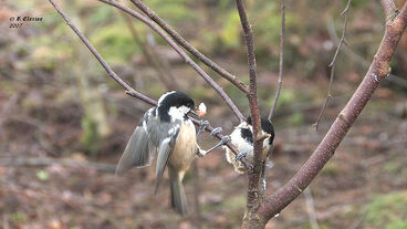
[[[221,149],[197,159],[185,186],[192,214],[169,209],[168,183],[153,195],[155,166],[115,177],[115,165],[144,112],[80,42],[48,1],[1,0],[0,6],[0,228],[238,228],[246,176]],[[234,1],[146,0],[190,43],[248,83],[246,48]],[[379,1],[353,1],[348,32],[327,94],[341,38],[345,0],[286,1],[284,80],[273,123],[274,166],[268,194],[309,158],[364,76],[385,22]],[[398,7],[404,0],[395,1]],[[157,100],[186,91],[208,106],[207,119],[232,131],[238,121],[218,94],[158,35],[98,1],[59,1],[73,22],[137,91]],[[131,6],[129,2],[126,3]],[[248,0],[259,66],[259,100],[267,116],[278,81],[280,1]],[[10,18],[41,17],[12,29]],[[200,63],[199,63],[200,64]],[[249,114],[244,95],[200,64]],[[268,228],[407,228],[407,37],[392,74],[365,107],[335,156]],[[204,135],[207,148],[215,139]],[[197,171],[199,179],[197,179]],[[198,181],[197,181],[198,180]]]

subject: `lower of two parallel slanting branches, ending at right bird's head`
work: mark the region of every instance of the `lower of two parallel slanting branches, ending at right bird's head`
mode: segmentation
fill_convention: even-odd
[[[239,108],[234,105],[234,103],[230,100],[230,97],[225,93],[225,91],[202,70],[198,66],[197,63],[195,63],[184,51],[181,48],[177,45],[163,30],[160,30],[154,21],[149,20],[148,18],[142,15],[140,13],[127,8],[124,4],[121,4],[119,2],[112,1],[112,0],[98,0],[101,2],[111,4],[113,7],[116,7],[117,9],[123,10],[124,12],[133,15],[134,18],[140,20],[143,23],[147,24],[149,28],[152,28],[155,32],[157,32],[169,45],[173,46],[173,49],[185,60],[185,62],[192,66],[192,69],[200,75],[202,79],[213,87],[213,90],[223,98],[223,101],[229,105],[229,107],[232,110],[234,115],[240,119],[244,119],[243,115],[239,111]]]

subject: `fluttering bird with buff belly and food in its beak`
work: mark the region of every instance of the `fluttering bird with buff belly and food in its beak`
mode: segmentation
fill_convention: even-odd
[[[188,212],[184,175],[197,155],[204,156],[207,153],[199,148],[194,123],[188,116],[200,116],[200,113],[186,93],[170,91],[163,94],[157,106],[144,114],[116,168],[116,174],[123,175],[132,167],[148,166],[152,154],[157,150],[155,194],[168,167],[171,207],[182,216]]]

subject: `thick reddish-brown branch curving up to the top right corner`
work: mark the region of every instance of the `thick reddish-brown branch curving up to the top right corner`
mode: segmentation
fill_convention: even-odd
[[[388,75],[389,64],[397,44],[407,25],[407,2],[400,13],[387,23],[378,51],[362,83],[338,114],[330,131],[304,166],[274,195],[269,196],[258,210],[264,223],[280,214],[311,184],[328,159],[334,155],[340,143],[371,100],[380,81]]]

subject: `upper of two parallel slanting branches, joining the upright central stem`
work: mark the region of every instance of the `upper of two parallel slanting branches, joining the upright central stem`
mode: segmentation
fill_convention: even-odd
[[[146,4],[140,0],[132,0],[132,2],[140,9],[146,15],[148,15],[153,21],[155,21],[160,28],[163,28],[178,44],[184,46],[188,52],[198,58],[202,63],[217,72],[220,76],[230,81],[234,86],[237,86],[240,91],[248,93],[248,87],[243,82],[239,81],[239,79],[216,64],[213,61],[205,56],[201,52],[195,49],[187,40],[185,40],[177,31],[175,31],[167,22],[165,22],[157,13],[155,13],[152,9],[149,9]]]

